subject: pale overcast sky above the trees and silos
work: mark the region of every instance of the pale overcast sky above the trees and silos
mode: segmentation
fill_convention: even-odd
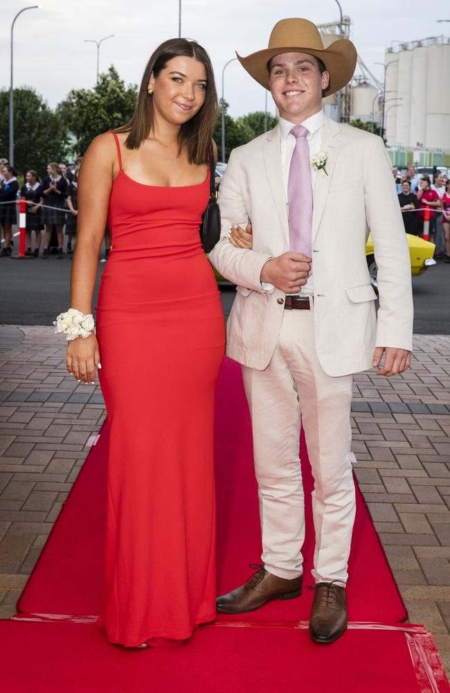
[[[39,0],[37,0],[39,2]],[[15,86],[30,85],[55,105],[73,88],[96,80],[96,46],[84,39],[114,34],[100,49],[100,71],[113,63],[125,82],[138,83],[154,48],[178,35],[179,0],[42,0],[44,9],[27,10],[15,24]],[[26,0],[1,0],[0,86],[10,85],[10,26]],[[32,4],[32,3],[29,3]],[[450,34],[447,3],[408,0],[341,0],[352,21],[350,38],[359,55],[382,80],[384,51],[393,41],[408,42]],[[442,10],[440,9],[442,8]],[[182,0],[181,34],[210,53],[219,96],[222,68],[235,56],[267,48],[271,28],[285,17],[307,17],[316,24],[339,19],[335,0]],[[443,68],[444,69],[444,68]],[[264,89],[233,62],[225,73],[225,98],[233,116],[264,109]],[[273,103],[269,98],[269,107]],[[6,116],[6,114],[3,114]],[[3,117],[2,116],[2,117]]]

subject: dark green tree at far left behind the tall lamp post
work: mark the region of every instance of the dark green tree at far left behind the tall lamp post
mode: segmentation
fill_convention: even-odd
[[[10,94],[0,89],[0,112],[8,114]],[[14,90],[14,164],[20,173],[44,173],[48,161],[62,161],[68,150],[67,128],[60,114],[31,87]],[[0,156],[8,158],[9,119],[0,119]]]

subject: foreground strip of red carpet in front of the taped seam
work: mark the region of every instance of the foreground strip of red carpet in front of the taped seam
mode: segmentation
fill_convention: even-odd
[[[130,651],[108,644],[90,624],[3,621],[1,690],[449,693],[429,633],[405,630],[350,629],[327,647],[305,629],[222,624],[201,627],[181,647]]]

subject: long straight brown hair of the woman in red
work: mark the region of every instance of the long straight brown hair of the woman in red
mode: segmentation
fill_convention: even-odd
[[[185,55],[195,58],[204,64],[206,69],[206,98],[199,111],[189,121],[181,125],[179,134],[179,151],[186,147],[190,164],[205,164],[208,160],[208,148],[213,137],[213,129],[217,120],[217,91],[215,89],[213,66],[210,57],[197,42],[183,38],[169,39],[158,46],[150,56],[143,74],[138,94],[138,103],[132,119],[114,132],[127,132],[125,146],[128,149],[138,149],[154,128],[153,99],[147,93],[150,76],[157,77],[169,60]]]

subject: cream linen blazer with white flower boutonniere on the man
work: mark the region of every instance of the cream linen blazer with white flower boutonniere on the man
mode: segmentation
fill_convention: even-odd
[[[375,346],[412,350],[413,299],[408,244],[392,166],[380,137],[325,119],[314,190],[313,272],[316,353],[325,373],[343,376],[372,366]],[[282,322],[285,294],[265,292],[262,266],[289,250],[278,125],[231,153],[219,193],[222,234],[210,261],[237,284],[226,353],[263,370]],[[253,249],[235,248],[228,227],[251,220]],[[378,265],[379,310],[370,285],[366,240]]]

